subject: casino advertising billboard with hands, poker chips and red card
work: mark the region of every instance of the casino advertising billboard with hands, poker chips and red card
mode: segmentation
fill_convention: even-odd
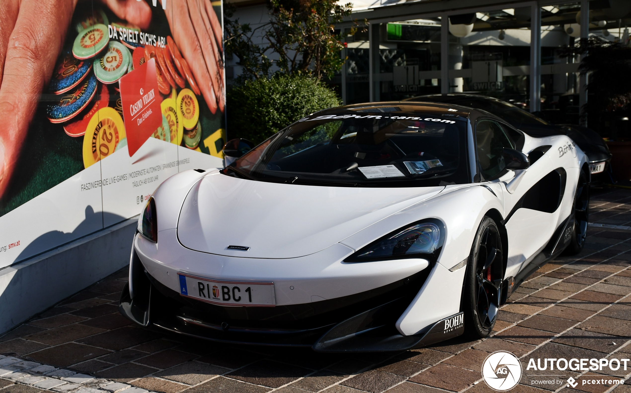
[[[222,165],[221,1],[7,5],[0,268],[139,214],[179,171]]]

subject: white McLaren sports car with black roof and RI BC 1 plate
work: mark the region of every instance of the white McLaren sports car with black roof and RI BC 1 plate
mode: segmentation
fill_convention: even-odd
[[[124,316],[321,352],[481,338],[526,277],[585,241],[585,154],[482,110],[341,106],[246,142],[228,142],[226,168],[177,174],[151,196]]]

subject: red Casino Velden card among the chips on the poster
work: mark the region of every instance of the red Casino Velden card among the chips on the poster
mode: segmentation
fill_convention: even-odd
[[[127,149],[133,156],[156,128],[162,125],[161,96],[156,78],[156,60],[151,59],[119,81],[125,119]]]

